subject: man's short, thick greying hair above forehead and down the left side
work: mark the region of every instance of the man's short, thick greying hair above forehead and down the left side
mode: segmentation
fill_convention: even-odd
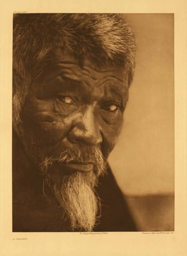
[[[13,17],[13,117],[20,111],[29,85],[44,72],[54,47],[87,55],[98,66],[124,66],[130,86],[136,44],[131,28],[114,13],[28,13]]]

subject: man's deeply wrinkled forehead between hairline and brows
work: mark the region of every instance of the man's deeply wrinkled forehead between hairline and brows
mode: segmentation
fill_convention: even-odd
[[[101,60],[102,61],[102,60]],[[50,53],[50,65],[46,75],[52,73],[58,74],[59,71],[64,71],[66,76],[71,75],[75,80],[79,77],[90,78],[93,80],[113,79],[118,81],[119,85],[128,87],[128,72],[124,67],[114,66],[103,63],[97,65],[89,56],[85,55],[83,59],[79,59],[74,54],[60,48],[53,49]]]

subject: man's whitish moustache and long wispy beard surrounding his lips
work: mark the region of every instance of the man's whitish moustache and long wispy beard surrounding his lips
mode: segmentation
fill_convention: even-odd
[[[68,164],[70,161],[94,162],[93,172],[74,172],[54,178],[55,170],[61,170],[61,163]],[[58,167],[55,167],[55,164]],[[63,212],[68,215],[71,229],[92,231],[97,225],[97,213],[100,208],[100,199],[94,191],[98,177],[106,171],[106,162],[98,148],[81,147],[74,150],[66,150],[56,157],[46,157],[40,165],[41,171],[46,176],[46,184],[52,189],[53,194],[60,203]]]

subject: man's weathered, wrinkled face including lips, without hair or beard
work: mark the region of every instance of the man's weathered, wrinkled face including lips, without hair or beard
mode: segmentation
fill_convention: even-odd
[[[32,84],[22,111],[26,147],[35,164],[79,146],[98,148],[107,159],[122,128],[127,80],[122,68],[101,69],[86,58],[80,67],[73,55],[56,49],[50,68]],[[84,159],[67,168],[75,169],[89,172],[93,163]]]

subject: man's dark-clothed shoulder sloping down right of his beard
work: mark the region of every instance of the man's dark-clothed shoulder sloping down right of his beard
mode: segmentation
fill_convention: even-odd
[[[101,218],[97,231],[136,231],[126,199],[117,185],[108,165],[106,174],[99,179],[97,193],[101,199]]]

